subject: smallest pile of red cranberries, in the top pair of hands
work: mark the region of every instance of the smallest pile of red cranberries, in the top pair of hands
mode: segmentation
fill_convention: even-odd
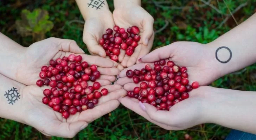
[[[137,26],[127,28],[127,32],[119,26],[114,26],[113,30],[108,28],[102,35],[99,44],[106,51],[106,55],[117,62],[120,49],[125,50],[128,56],[133,54],[140,41],[140,30]]]

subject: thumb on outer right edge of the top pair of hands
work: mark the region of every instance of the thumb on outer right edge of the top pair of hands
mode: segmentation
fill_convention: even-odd
[[[142,35],[142,43],[143,45],[147,46],[149,40],[154,34],[154,18],[152,16],[148,16],[147,18],[143,19],[143,35]]]

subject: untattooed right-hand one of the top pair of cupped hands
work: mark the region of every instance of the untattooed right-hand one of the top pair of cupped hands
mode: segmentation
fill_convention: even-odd
[[[117,7],[113,12],[115,24],[127,30],[128,27],[137,26],[140,29],[139,35],[141,40],[135,48],[132,56],[126,55],[121,49],[119,62],[123,67],[129,67],[136,62],[138,58],[148,54],[151,50],[154,41],[153,17],[139,5],[125,5]]]

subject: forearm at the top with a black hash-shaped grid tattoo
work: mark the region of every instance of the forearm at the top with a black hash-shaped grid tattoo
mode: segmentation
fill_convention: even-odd
[[[76,3],[84,20],[110,12],[107,0],[76,0]]]

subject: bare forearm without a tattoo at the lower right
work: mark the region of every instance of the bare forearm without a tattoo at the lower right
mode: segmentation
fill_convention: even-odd
[[[209,123],[256,134],[256,92],[213,88],[206,96]]]

